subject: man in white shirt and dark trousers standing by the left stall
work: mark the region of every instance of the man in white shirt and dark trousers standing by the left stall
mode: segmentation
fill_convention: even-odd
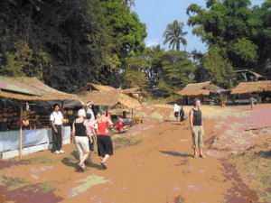
[[[52,152],[60,154],[64,151],[62,147],[62,120],[63,115],[60,111],[60,105],[53,105],[54,112],[51,113],[51,136],[52,136]]]

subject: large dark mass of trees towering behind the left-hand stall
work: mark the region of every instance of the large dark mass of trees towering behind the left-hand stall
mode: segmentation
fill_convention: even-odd
[[[38,77],[72,92],[109,83],[126,56],[144,48],[134,1],[26,0],[0,3],[0,73]]]

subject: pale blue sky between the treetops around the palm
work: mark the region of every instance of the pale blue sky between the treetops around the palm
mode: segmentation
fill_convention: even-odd
[[[251,0],[252,5],[261,5],[264,0]],[[168,50],[168,44],[163,44],[166,25],[173,23],[174,20],[185,24],[184,32],[188,32],[185,36],[187,40],[186,51],[207,50],[201,39],[192,34],[192,27],[187,25],[188,15],[186,8],[191,4],[205,6],[204,0],[135,0],[135,6],[132,10],[138,14],[142,23],[146,24],[147,37],[145,44],[147,46],[160,44]],[[183,47],[181,46],[181,50]]]

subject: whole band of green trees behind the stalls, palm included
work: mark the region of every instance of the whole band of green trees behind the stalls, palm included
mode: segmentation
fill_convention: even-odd
[[[134,0],[3,0],[0,74],[38,77],[72,92],[88,82],[140,86],[167,97],[188,83],[235,85],[233,68],[270,75],[271,0],[207,0],[187,8],[188,25],[208,46],[185,50],[185,24],[165,26],[164,44],[145,47]]]

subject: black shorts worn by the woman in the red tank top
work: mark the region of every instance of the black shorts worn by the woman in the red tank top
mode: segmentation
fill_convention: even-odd
[[[98,156],[105,157],[106,154],[113,155],[113,143],[108,135],[97,136]]]

